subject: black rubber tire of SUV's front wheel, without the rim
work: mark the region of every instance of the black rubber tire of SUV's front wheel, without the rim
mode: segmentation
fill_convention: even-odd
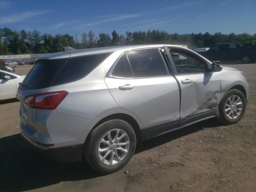
[[[237,116],[234,119],[231,119],[226,114],[225,109],[226,109],[226,102],[227,102],[228,98],[230,98],[233,95],[234,96],[239,96],[241,98],[241,100],[242,100],[242,111],[239,114],[239,116]],[[240,121],[241,118],[244,116],[245,110],[246,110],[246,98],[245,98],[244,94],[240,90],[232,89],[232,90],[229,90],[228,92],[226,92],[226,94],[222,98],[222,100],[219,104],[220,116],[217,119],[220,122],[224,123],[224,124],[235,124],[238,121]]]

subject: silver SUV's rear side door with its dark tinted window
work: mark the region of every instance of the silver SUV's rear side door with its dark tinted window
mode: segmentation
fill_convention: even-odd
[[[178,126],[178,84],[158,48],[122,54],[105,82],[117,104],[138,116],[144,128],[167,122],[175,122],[173,126]]]

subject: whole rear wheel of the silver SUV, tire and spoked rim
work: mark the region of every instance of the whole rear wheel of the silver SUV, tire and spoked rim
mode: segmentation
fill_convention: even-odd
[[[84,158],[94,170],[110,174],[122,169],[132,158],[136,135],[124,120],[109,120],[89,134],[84,146]]]

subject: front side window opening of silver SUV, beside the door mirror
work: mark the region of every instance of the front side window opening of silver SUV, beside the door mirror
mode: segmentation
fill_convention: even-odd
[[[170,52],[178,74],[200,73],[206,70],[205,65],[183,53]]]

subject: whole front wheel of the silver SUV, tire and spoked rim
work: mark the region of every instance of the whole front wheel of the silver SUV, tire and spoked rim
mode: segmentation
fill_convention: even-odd
[[[219,120],[224,124],[237,123],[246,110],[246,98],[244,94],[237,89],[228,91],[222,98],[219,105]]]

